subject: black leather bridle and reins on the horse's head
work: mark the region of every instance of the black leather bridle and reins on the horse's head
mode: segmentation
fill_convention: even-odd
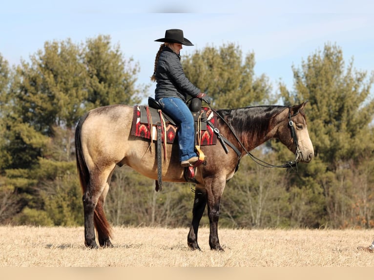
[[[288,109],[289,109],[289,113],[288,113],[288,119],[289,119],[289,126],[290,126],[290,129],[291,129],[291,136],[292,136],[292,139],[293,139],[293,142],[295,143],[296,145],[296,152],[295,152],[295,159],[294,160],[290,160],[288,161],[287,163],[285,164],[282,164],[282,165],[273,165],[273,164],[270,164],[266,161],[263,161],[263,160],[260,160],[258,158],[256,158],[255,156],[253,156],[251,153],[249,153],[249,151],[247,151],[247,149],[244,147],[243,143],[239,140],[239,138],[237,137],[237,135],[235,134],[235,132],[233,131],[232,127],[229,125],[229,123],[220,115],[217,113],[216,110],[214,110],[212,107],[210,107],[210,105],[208,104],[209,108],[217,114],[217,116],[223,120],[223,122],[226,123],[226,125],[229,127],[231,133],[234,135],[235,139],[238,141],[238,143],[240,144],[240,146],[243,148],[243,150],[247,153],[247,155],[249,155],[249,157],[254,161],[256,162],[257,164],[261,165],[261,166],[264,166],[264,167],[278,167],[278,168],[292,168],[295,167],[296,168],[296,172],[297,172],[297,160],[300,156],[300,148],[299,148],[299,143],[298,143],[298,140],[297,140],[297,136],[296,136],[296,133],[295,133],[295,128],[293,127],[293,121],[291,120],[292,117],[296,116],[299,111],[297,111],[295,114],[291,115],[291,107],[289,106]],[[239,159],[240,159],[240,156],[239,156]]]

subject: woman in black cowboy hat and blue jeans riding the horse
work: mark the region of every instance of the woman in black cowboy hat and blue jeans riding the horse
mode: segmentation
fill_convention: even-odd
[[[168,29],[165,38],[155,40],[164,42],[156,54],[152,81],[156,81],[155,100],[162,110],[171,117],[178,126],[179,160],[182,167],[193,165],[197,160],[194,150],[194,120],[186,105],[187,94],[210,103],[205,93],[193,85],[186,77],[180,51],[182,45],[193,46],[184,38],[183,30]]]

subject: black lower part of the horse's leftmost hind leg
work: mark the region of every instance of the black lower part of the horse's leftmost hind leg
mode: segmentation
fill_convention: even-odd
[[[84,244],[89,248],[97,248],[95,240],[94,210],[96,203],[92,201],[92,196],[88,191],[83,194],[84,210]]]

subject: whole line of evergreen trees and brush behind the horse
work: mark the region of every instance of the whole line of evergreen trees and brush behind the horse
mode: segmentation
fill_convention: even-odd
[[[215,108],[309,100],[312,162],[296,172],[244,157],[225,188],[221,226],[374,227],[374,73],[355,69],[353,58],[344,61],[331,43],[291,66],[292,89],[255,73],[255,54],[233,43],[195,50],[182,64]],[[92,108],[139,104],[150,86],[137,84],[139,71],[103,35],[82,43],[47,41],[19,65],[0,53],[0,224],[83,225],[75,126]],[[276,140],[253,154],[281,163],[293,156]],[[115,225],[188,226],[192,190],[188,183],[164,182],[155,192],[153,180],[121,167],[105,211]],[[206,215],[202,223],[208,224]]]

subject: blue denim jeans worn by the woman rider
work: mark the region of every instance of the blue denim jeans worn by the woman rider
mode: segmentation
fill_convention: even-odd
[[[179,161],[197,157],[194,150],[194,120],[186,103],[177,97],[160,98],[157,101],[166,115],[178,125]]]

